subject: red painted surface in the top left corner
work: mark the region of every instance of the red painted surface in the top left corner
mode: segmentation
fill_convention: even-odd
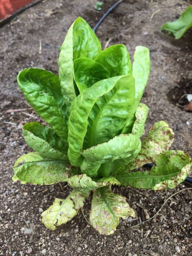
[[[0,20],[9,17],[22,6],[33,0],[0,0]]]

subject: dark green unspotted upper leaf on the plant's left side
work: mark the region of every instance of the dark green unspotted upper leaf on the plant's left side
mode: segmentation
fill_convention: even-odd
[[[67,143],[66,105],[59,78],[47,70],[30,68],[21,70],[17,81],[28,103]]]

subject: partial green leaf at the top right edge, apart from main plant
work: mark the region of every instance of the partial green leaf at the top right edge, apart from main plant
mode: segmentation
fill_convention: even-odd
[[[161,31],[179,39],[190,27],[192,27],[192,5],[181,14],[178,20],[165,23]]]

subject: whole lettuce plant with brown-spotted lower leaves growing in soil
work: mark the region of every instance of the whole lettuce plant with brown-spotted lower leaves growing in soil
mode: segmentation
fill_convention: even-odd
[[[29,122],[23,136],[34,152],[14,164],[13,180],[35,185],[68,182],[67,198],[56,198],[42,213],[47,228],[71,220],[92,195],[90,222],[100,234],[116,230],[119,219],[135,217],[112,185],[167,189],[190,170],[187,153],[168,150],[173,132],[155,123],[141,142],[148,107],[140,103],[150,72],[149,50],[137,46],[131,64],[124,45],[101,50],[82,18],[65,37],[59,76],[44,69],[20,71],[18,84],[28,103],[49,126]],[[150,171],[135,170],[154,162]],[[50,202],[51,203],[51,202]]]

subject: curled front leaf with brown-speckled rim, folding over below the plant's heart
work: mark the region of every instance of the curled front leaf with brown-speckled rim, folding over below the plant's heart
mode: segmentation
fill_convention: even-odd
[[[81,170],[83,173],[92,177],[99,173],[99,164],[114,161],[116,164],[126,165],[138,155],[140,148],[141,141],[133,134],[121,134],[115,136],[108,142],[83,150],[82,155],[85,159],[81,165]],[[85,165],[86,162],[90,164],[90,166]],[[85,169],[85,167],[88,168]],[[108,165],[101,167],[100,175],[102,177],[108,177],[110,175]]]

